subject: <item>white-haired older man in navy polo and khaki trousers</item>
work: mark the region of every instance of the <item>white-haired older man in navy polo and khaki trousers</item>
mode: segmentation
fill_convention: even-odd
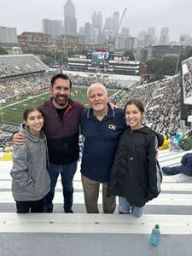
[[[88,213],[98,213],[99,187],[102,183],[104,213],[113,213],[115,197],[107,197],[108,180],[119,136],[125,130],[123,109],[112,109],[103,84],[91,84],[87,90],[90,108],[81,115],[84,153],[81,164],[84,202]]]

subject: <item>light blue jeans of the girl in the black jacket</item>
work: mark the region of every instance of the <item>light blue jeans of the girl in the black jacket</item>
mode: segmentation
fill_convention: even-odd
[[[126,200],[125,197],[119,196],[119,212],[131,213],[135,217],[141,217],[143,214],[143,207],[134,207]]]

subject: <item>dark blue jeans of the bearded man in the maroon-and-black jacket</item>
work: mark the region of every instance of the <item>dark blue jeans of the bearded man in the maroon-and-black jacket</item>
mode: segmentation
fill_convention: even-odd
[[[45,196],[44,212],[53,212],[53,199],[55,195],[55,186],[59,174],[61,174],[62,192],[64,198],[64,212],[70,212],[73,205],[73,177],[77,171],[78,161],[67,165],[49,164],[50,191]]]

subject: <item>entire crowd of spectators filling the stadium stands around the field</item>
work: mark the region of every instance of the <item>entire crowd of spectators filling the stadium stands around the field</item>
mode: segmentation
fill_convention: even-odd
[[[185,92],[190,96],[192,92],[192,58],[183,61],[183,63],[187,65],[186,70],[188,70],[183,75]],[[51,76],[50,73],[36,73],[0,79],[0,102],[3,100],[11,102],[48,91]],[[110,79],[110,77],[105,77],[102,74],[71,74],[70,78],[73,85],[89,86],[97,82],[106,85],[108,88],[119,89],[111,96],[110,101],[122,108],[129,99],[137,98],[146,107],[146,123],[151,125],[151,128],[155,131],[171,135],[177,132],[179,128],[179,75],[142,85],[138,85],[136,81],[131,81],[132,84],[129,86],[124,86],[127,80]]]

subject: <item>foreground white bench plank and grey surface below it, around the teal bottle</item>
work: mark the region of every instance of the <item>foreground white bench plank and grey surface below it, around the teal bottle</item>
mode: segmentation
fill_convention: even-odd
[[[3,256],[191,256],[191,215],[0,213]],[[158,247],[150,245],[160,224]]]

